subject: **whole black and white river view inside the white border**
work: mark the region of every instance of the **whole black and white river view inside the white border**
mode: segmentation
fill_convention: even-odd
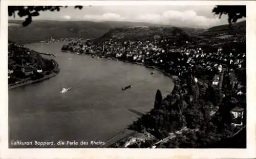
[[[174,4],[8,5],[8,148],[246,149],[247,6]]]

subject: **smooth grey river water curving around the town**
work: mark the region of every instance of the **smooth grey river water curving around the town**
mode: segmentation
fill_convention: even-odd
[[[61,52],[65,43],[26,45],[56,54],[44,57],[56,60],[60,73],[9,90],[10,141],[105,142],[153,108],[157,89],[165,95],[174,87],[170,78],[160,72],[152,76],[144,66]],[[122,91],[127,85],[133,88]],[[63,87],[71,89],[61,94]]]

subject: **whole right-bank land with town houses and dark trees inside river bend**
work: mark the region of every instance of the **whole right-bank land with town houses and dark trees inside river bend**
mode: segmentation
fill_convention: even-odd
[[[163,98],[158,90],[152,111],[129,126],[137,133],[107,142],[106,147],[209,148],[245,127],[245,38],[237,34],[226,41],[210,38],[210,46],[200,42],[154,36],[63,45],[63,54],[132,62],[176,79],[172,93]]]

